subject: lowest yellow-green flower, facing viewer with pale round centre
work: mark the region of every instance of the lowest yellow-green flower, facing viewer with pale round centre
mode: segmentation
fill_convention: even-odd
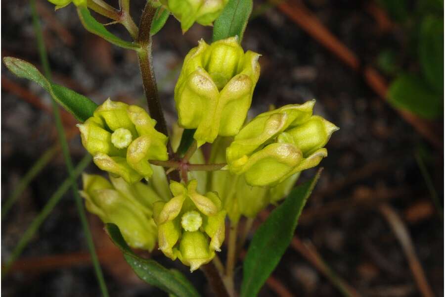
[[[154,219],[158,226],[159,248],[190,271],[210,262],[224,241],[225,210],[217,194],[197,193],[197,181],[186,186],[171,182],[173,198],[154,203]]]

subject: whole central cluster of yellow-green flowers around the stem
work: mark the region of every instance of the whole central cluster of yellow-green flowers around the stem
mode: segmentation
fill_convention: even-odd
[[[175,9],[192,1],[161,2]],[[301,171],[327,156],[324,147],[338,128],[312,114],[314,100],[245,123],[260,75],[259,56],[244,52],[237,38],[211,45],[201,40],[187,54],[175,102],[178,127],[196,129],[197,149],[181,161],[168,160],[167,136],[155,130],[156,122],[138,106],[108,99],[78,125],[84,147],[111,180],[84,175],[87,208],[117,224],[129,246],[151,250],[158,242],[167,257],[193,271],[220,251],[226,215],[234,223],[241,216],[254,218],[287,196]],[[178,144],[178,138],[174,135],[172,143]],[[204,143],[213,143],[210,164],[200,150]],[[168,185],[164,169],[150,164],[153,160],[182,170],[182,181]],[[184,169],[200,164],[223,164],[218,168],[224,170]]]

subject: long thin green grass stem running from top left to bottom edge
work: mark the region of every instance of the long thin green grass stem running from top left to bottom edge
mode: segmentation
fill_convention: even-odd
[[[38,48],[39,48],[42,65],[44,68],[45,77],[48,81],[51,81],[52,80],[51,79],[51,70],[49,67],[48,56],[46,54],[45,43],[43,40],[42,29],[41,29],[40,23],[39,23],[35,0],[30,0],[30,5],[31,5],[32,14],[33,14],[34,30],[36,33],[37,44],[38,44]],[[52,99],[51,101],[52,101],[52,110],[54,113],[54,121],[56,124],[57,134],[58,134],[58,138],[60,141],[60,146],[62,148],[62,153],[63,153],[63,157],[65,159],[65,164],[66,164],[66,167],[68,170],[69,178],[71,181],[71,188],[73,190],[73,195],[76,200],[76,206],[77,206],[77,210],[79,212],[79,217],[81,220],[82,228],[84,230],[84,235],[86,237],[88,249],[91,254],[91,261],[94,266],[94,271],[96,273],[96,278],[99,283],[99,287],[102,292],[102,296],[108,297],[108,291],[107,291],[107,287],[105,285],[105,280],[103,278],[102,270],[99,265],[99,260],[97,258],[97,254],[94,249],[94,243],[92,241],[91,232],[89,231],[87,215],[85,213],[85,209],[82,204],[82,198],[79,196],[79,189],[77,187],[76,177],[74,174],[75,173],[74,166],[73,166],[73,162],[71,160],[70,152],[68,149],[68,142],[66,140],[65,130],[63,129],[63,126],[62,126],[62,120],[60,118],[60,113],[59,113],[59,107],[54,99]]]

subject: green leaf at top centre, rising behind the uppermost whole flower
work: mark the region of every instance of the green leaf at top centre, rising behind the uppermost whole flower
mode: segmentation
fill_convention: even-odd
[[[241,43],[252,6],[252,0],[229,0],[213,23],[213,41],[238,36]]]

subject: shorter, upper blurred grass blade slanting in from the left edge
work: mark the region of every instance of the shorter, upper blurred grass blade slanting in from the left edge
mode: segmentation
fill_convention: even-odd
[[[14,205],[17,198],[25,191],[28,187],[29,183],[45,168],[46,164],[52,159],[55,153],[58,150],[58,146],[54,146],[46,150],[40,158],[34,163],[31,169],[23,176],[18,185],[14,188],[11,195],[6,199],[3,206],[1,206],[1,220],[6,217],[6,214],[11,209],[12,205]]]

